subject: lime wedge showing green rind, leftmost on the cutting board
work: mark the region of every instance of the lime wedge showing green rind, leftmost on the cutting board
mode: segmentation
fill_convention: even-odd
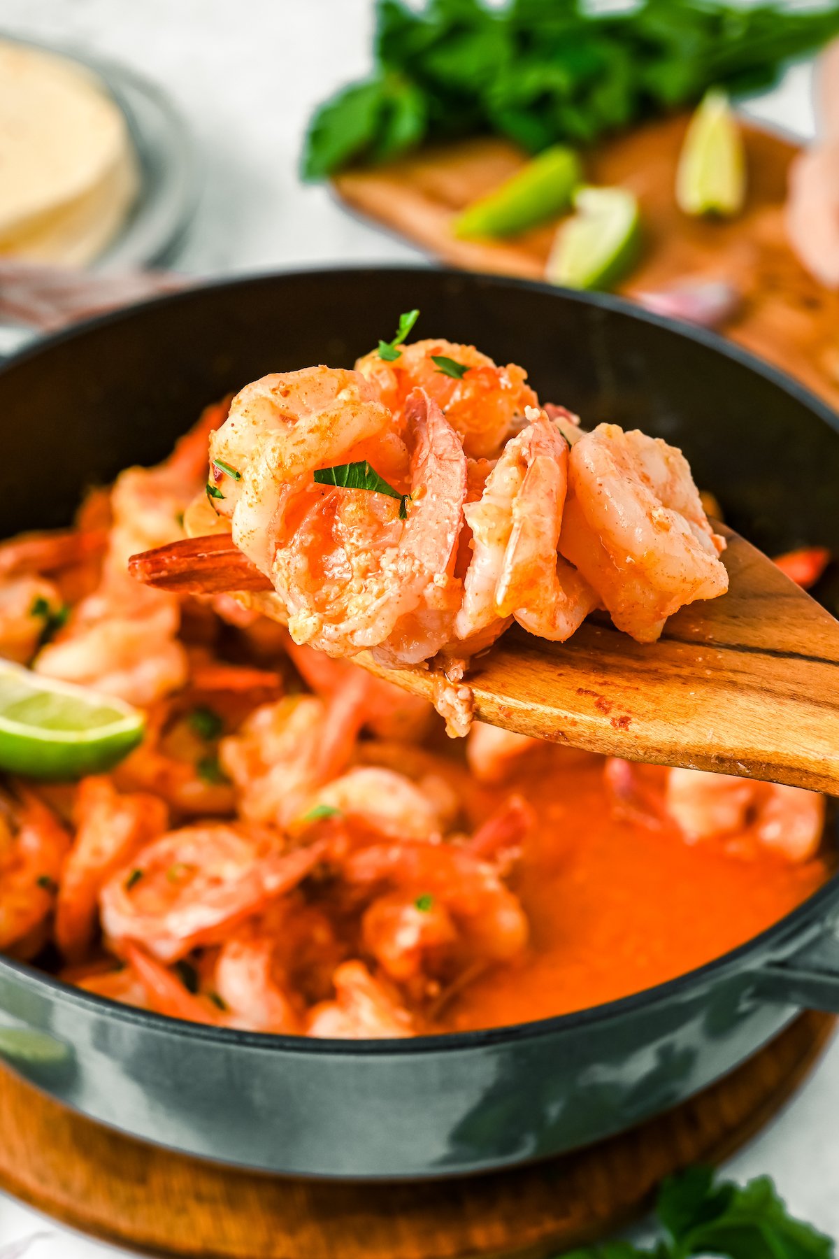
[[[581,180],[582,167],[577,155],[572,149],[555,145],[528,161],[494,191],[468,205],[455,220],[454,234],[514,235],[567,210],[571,194]]]

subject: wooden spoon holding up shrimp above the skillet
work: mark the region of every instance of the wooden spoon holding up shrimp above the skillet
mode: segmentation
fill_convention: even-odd
[[[655,643],[605,618],[565,643],[513,628],[472,661],[475,716],[629,760],[839,794],[839,622],[738,534],[714,529],[728,541],[727,594],[682,608]],[[133,556],[131,569],[170,590],[218,590],[218,569],[226,588],[233,573],[238,589],[269,588],[231,553],[225,535],[192,539]],[[431,669],[355,660],[428,699],[439,682]]]

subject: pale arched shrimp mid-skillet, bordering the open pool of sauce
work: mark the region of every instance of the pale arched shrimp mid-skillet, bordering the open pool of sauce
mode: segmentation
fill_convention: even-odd
[[[392,769],[374,765],[350,769],[304,801],[297,825],[306,822],[307,813],[323,808],[396,840],[440,838],[440,815],[434,801]]]

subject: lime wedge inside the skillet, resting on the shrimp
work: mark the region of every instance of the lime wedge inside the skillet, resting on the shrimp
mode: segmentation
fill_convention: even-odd
[[[0,661],[0,769],[79,778],[109,769],[142,739],[145,718],[109,695]]]

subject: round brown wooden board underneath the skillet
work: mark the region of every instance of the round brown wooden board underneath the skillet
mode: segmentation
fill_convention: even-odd
[[[806,1078],[834,1026],[829,1015],[801,1015],[709,1089],[599,1146],[421,1183],[283,1180],[186,1158],[102,1128],[0,1070],[0,1188],[143,1254],[545,1259],[626,1224],[664,1176],[733,1153]]]

